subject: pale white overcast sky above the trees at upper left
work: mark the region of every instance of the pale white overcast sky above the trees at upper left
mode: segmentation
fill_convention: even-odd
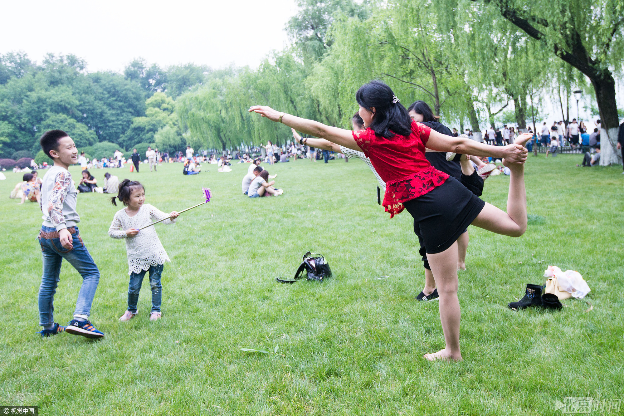
[[[257,66],[288,44],[294,0],[7,1],[0,53],[74,54],[89,71],[122,71],[135,57],[166,67]]]

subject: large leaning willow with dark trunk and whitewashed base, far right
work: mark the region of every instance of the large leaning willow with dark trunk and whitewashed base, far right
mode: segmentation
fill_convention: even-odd
[[[615,151],[618,112],[614,74],[622,74],[624,3],[622,0],[461,0],[497,11],[587,76],[602,121],[600,164],[622,163]],[[605,140],[606,139],[606,140]]]

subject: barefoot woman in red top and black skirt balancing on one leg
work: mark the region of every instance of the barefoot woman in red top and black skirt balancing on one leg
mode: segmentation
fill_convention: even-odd
[[[424,239],[429,266],[440,299],[440,319],[446,347],[428,360],[461,360],[459,348],[459,300],[457,299],[457,238],[470,224],[519,237],[527,229],[527,199],[524,187],[524,148],[532,135],[520,135],[514,144],[489,146],[462,137],[446,136],[423,124],[412,122],[392,89],[371,81],[357,94],[359,115],[366,129],[352,132],[291,116],[266,106],[254,111],[272,121],[348,147],[369,157],[386,182],[384,207],[392,216],[403,209],[414,217]],[[476,197],[457,179],[434,169],[424,156],[425,146],[442,152],[503,159],[511,171],[507,212]]]

